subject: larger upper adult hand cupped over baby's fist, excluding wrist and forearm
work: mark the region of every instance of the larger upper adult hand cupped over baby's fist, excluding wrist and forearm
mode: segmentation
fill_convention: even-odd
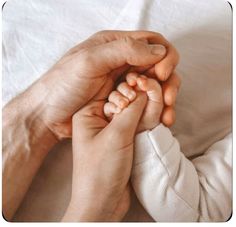
[[[37,82],[36,98],[42,100],[39,105],[42,119],[57,138],[70,137],[72,115],[98,93],[108,78],[116,78],[131,66],[158,63],[156,75],[166,80],[177,62],[176,50],[159,33],[98,32],[72,48]],[[167,87],[175,90],[176,85]],[[176,94],[170,94],[174,99]],[[165,113],[164,110],[163,116]],[[172,115],[167,116],[171,122]]]

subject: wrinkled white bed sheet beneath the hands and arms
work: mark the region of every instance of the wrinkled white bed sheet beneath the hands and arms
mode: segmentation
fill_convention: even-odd
[[[225,0],[11,0],[3,9],[3,104],[68,48],[104,29],[162,33],[180,52],[171,129],[192,159],[231,131],[231,19]],[[49,153],[16,221],[60,220],[71,192],[71,144]],[[135,195],[125,221],[152,221]]]

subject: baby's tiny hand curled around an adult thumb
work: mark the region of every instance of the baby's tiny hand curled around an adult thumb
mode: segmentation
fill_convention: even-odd
[[[134,72],[128,73],[126,82],[120,83],[117,90],[110,93],[108,102],[104,105],[104,114],[111,120],[129,106],[129,103],[135,99],[137,92],[146,92],[148,97],[137,128],[137,132],[142,132],[153,129],[160,123],[163,109],[162,89],[155,79]]]

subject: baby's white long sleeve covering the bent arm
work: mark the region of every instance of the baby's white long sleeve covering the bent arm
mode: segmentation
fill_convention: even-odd
[[[164,125],[140,133],[131,181],[156,221],[227,221],[232,212],[232,134],[190,161]]]

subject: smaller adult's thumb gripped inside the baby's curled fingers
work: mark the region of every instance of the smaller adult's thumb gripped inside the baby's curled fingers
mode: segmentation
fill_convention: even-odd
[[[113,117],[112,121],[104,129],[114,148],[124,148],[134,140],[134,135],[147,103],[144,92],[138,92],[136,99],[121,113]]]

